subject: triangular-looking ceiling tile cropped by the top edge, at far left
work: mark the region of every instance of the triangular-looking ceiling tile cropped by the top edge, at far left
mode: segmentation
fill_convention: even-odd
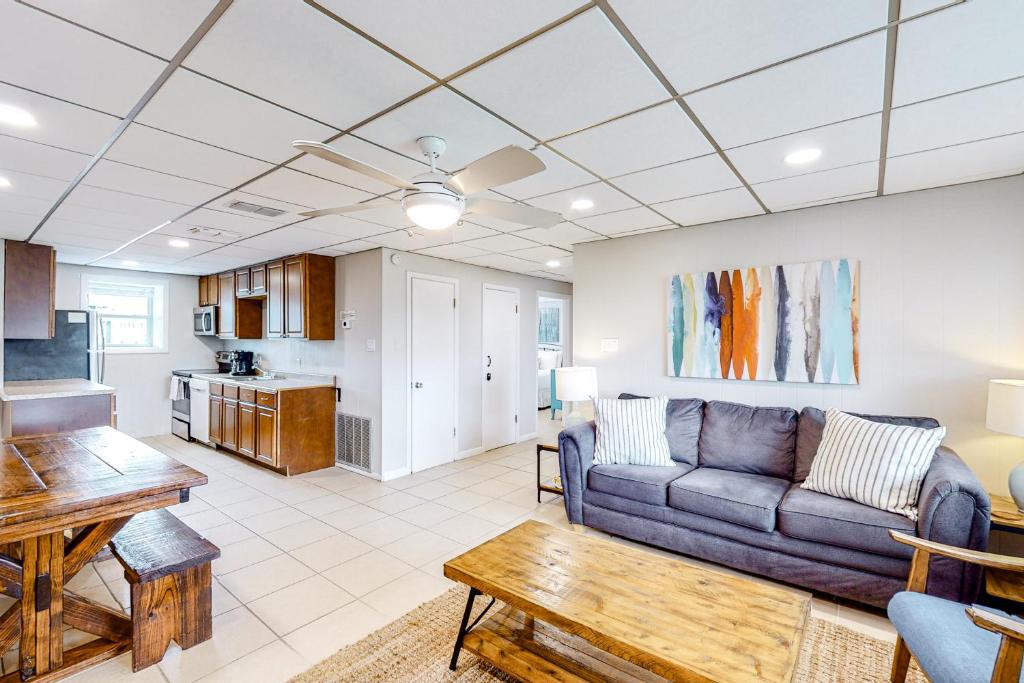
[[[129,45],[170,59],[199,28],[216,0],[27,0]]]

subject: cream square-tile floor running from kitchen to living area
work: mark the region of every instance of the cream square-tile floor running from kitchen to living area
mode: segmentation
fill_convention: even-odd
[[[541,415],[541,439],[553,442],[560,423]],[[130,655],[122,655],[76,683],[285,681],[454,586],[441,572],[450,557],[528,518],[567,527],[559,497],[537,503],[537,440],[385,483],[341,469],[288,479],[173,436],[144,440],[209,476],[171,511],[221,548],[213,563],[214,637],[186,651],[172,645],[159,666],[134,675]],[[556,469],[548,456],[545,473]],[[89,565],[70,588],[128,605],[115,560]],[[813,612],[895,638],[873,612],[821,598]],[[3,667],[16,669],[16,652]]]

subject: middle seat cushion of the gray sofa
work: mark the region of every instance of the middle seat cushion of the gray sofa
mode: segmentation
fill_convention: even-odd
[[[669,486],[669,506],[761,531],[775,528],[788,479],[701,467]]]

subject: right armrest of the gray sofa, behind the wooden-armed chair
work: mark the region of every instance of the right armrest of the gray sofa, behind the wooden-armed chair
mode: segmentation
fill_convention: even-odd
[[[992,502],[971,468],[951,449],[939,446],[918,499],[918,536],[957,548],[985,550]],[[936,558],[928,592],[950,600],[973,602],[981,586],[981,569],[949,558]],[[933,567],[934,569],[934,567]]]

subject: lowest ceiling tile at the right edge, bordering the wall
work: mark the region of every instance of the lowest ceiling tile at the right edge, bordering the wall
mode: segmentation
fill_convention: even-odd
[[[1024,170],[1024,133],[895,157],[886,162],[886,194],[1013,175]]]

